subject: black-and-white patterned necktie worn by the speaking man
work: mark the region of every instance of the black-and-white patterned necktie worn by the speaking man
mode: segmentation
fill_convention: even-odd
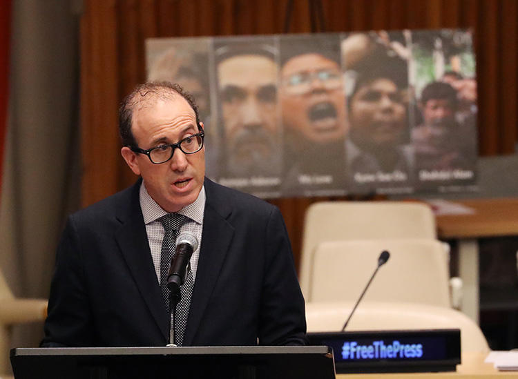
[[[189,217],[178,215],[178,213],[170,213],[160,217],[160,222],[165,229],[164,240],[162,242],[162,254],[160,255],[160,289],[162,289],[162,297],[166,304],[166,309],[170,312],[169,289],[167,288],[167,274],[169,266],[175,253],[175,243],[178,237],[178,230],[189,220]],[[189,264],[184,284],[180,287],[182,293],[180,302],[178,302],[174,315],[175,344],[182,346],[184,342],[185,326],[187,324],[187,316],[189,315],[189,306],[191,304],[191,294],[193,292],[194,280]],[[171,318],[172,318],[171,314]],[[173,324],[171,324],[171,328]]]

